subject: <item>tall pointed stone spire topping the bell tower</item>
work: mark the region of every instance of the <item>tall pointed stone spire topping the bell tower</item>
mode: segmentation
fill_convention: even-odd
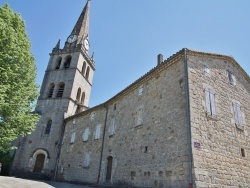
[[[89,33],[89,7],[90,0],[87,1],[85,7],[82,10],[81,15],[79,16],[75,24],[75,27],[71,32],[71,34],[77,35],[77,44],[79,44],[82,39],[86,38]]]

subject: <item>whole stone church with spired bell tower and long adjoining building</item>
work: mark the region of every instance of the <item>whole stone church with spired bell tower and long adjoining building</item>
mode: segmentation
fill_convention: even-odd
[[[88,0],[52,49],[11,169],[19,177],[137,187],[249,187],[250,78],[231,57],[183,48],[89,108]]]

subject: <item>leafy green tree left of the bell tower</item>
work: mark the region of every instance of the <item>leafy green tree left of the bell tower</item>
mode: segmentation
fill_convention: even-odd
[[[0,152],[30,133],[38,120],[31,113],[38,96],[35,59],[24,21],[8,4],[0,7]]]

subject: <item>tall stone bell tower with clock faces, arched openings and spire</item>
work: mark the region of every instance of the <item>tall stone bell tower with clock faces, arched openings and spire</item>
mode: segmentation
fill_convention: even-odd
[[[87,1],[64,47],[60,40],[50,53],[35,112],[40,119],[34,131],[22,138],[11,174],[53,178],[63,137],[64,118],[88,108],[95,71],[89,57],[89,6]]]

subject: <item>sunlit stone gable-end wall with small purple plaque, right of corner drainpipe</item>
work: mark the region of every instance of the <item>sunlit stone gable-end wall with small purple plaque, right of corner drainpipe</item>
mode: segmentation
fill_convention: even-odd
[[[232,58],[222,55],[189,52],[188,66],[196,187],[247,188],[250,186],[249,76]],[[230,84],[228,70],[234,74],[235,85]],[[214,115],[208,115],[206,110],[206,88],[215,93]],[[240,104],[243,126],[235,122],[236,101]]]

